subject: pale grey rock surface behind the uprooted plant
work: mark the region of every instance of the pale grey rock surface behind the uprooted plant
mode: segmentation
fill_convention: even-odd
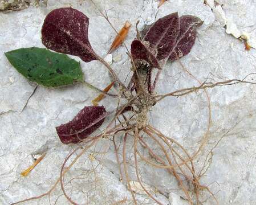
[[[243,42],[226,34],[225,28],[216,20],[211,8],[204,1],[169,0],[159,9],[157,1],[149,0],[106,0],[95,1],[106,9],[113,26],[121,28],[126,20],[132,23],[125,43],[131,44],[136,36],[135,24],[140,20],[139,29],[151,24],[164,15],[178,11],[179,15],[196,15],[204,20],[198,29],[195,46],[181,63],[201,82],[224,79],[243,79],[255,73],[256,51],[245,50]],[[251,38],[256,36],[256,2],[217,1],[228,19],[232,19],[238,30],[246,31]],[[43,47],[40,41],[40,28],[43,19],[52,9],[72,6],[90,18],[89,39],[97,54],[105,57],[111,46],[115,31],[102,18],[90,1],[48,0],[47,6],[29,6],[25,10],[0,13],[0,203],[10,204],[48,191],[59,177],[59,171],[70,150],[75,146],[60,143],[55,126],[66,123],[85,105],[91,105],[98,93],[76,84],[60,89],[36,87],[7,62],[3,52],[21,47]],[[130,62],[125,55],[125,47],[119,47],[113,56],[112,67],[123,81],[130,75]],[[72,57],[76,60],[78,58]],[[84,78],[89,83],[103,89],[109,84],[107,69],[98,62],[81,63]],[[255,75],[247,80],[255,82]],[[160,75],[157,93],[198,86],[188,72],[178,62],[168,63]],[[256,86],[236,84],[209,89],[212,121],[209,141],[196,161],[199,172],[206,162],[211,162],[201,182],[208,185],[219,204],[256,204]],[[113,110],[116,101],[109,97],[102,101],[107,110]],[[194,153],[200,145],[208,126],[208,101],[203,91],[173,98],[169,97],[155,105],[151,111],[150,124],[162,133],[180,142],[189,153]],[[119,145],[121,136],[116,137]],[[148,140],[147,138],[145,140]],[[220,141],[220,142],[218,142]],[[218,143],[217,143],[218,142]],[[132,139],[128,140],[127,161],[133,161]],[[157,151],[153,142],[152,149]],[[131,194],[125,183],[120,181],[119,168],[112,141],[103,139],[91,151],[79,159],[78,163],[65,177],[66,190],[78,203],[131,204]],[[212,158],[209,159],[209,151]],[[46,157],[27,176],[21,171],[33,162],[33,157],[47,151]],[[98,152],[97,152],[98,151]],[[100,153],[104,154],[100,154]],[[121,157],[121,149],[119,150]],[[95,172],[90,170],[93,167]],[[129,175],[136,181],[134,167]],[[182,201],[184,194],[176,179],[161,169],[153,169],[145,163],[140,164],[143,183],[157,187],[154,193],[163,204],[174,200]],[[79,177],[83,179],[79,180]],[[72,178],[72,183],[68,183]],[[83,191],[83,192],[82,192]],[[83,193],[83,197],[81,196]],[[161,194],[160,194],[161,193]],[[172,197],[169,198],[169,195]],[[174,197],[175,196],[175,197]],[[178,197],[181,196],[181,197]],[[204,195],[203,204],[214,204],[209,195]],[[140,203],[156,204],[146,195],[137,194]],[[125,201],[126,200],[126,201]],[[50,202],[68,204],[60,186],[52,192]],[[31,200],[25,204],[50,204],[48,197]]]

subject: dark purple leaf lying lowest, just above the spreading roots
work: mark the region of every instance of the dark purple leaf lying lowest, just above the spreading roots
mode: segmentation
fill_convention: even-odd
[[[63,144],[77,144],[100,127],[107,116],[104,106],[85,106],[73,120],[56,127]]]

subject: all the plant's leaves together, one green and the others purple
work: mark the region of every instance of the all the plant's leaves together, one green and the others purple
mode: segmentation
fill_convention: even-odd
[[[142,39],[133,40],[133,61],[138,68],[141,63],[146,63],[149,70],[162,69],[166,60],[177,60],[190,52],[196,39],[196,28],[201,24],[197,17],[178,17],[177,13],[157,20],[141,32]],[[99,60],[115,77],[111,67],[92,49],[88,26],[89,19],[82,12],[71,7],[55,9],[44,19],[42,43],[62,54],[32,47],[9,51],[5,55],[23,76],[46,87],[83,81],[80,64],[64,54],[79,56],[84,62]],[[135,83],[136,89],[139,88]],[[131,105],[127,108],[131,108]],[[107,114],[103,106],[86,106],[73,120],[56,128],[58,136],[64,144],[78,143],[99,128]]]

